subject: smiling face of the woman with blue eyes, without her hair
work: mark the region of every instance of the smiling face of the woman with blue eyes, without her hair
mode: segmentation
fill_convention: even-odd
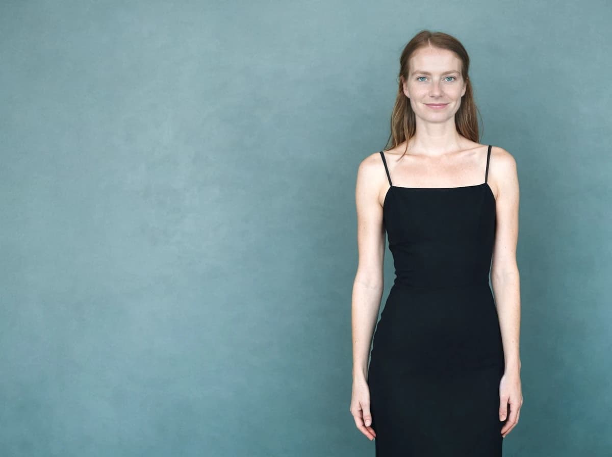
[[[403,89],[414,114],[427,122],[454,122],[466,89],[457,55],[446,49],[420,48],[412,54],[409,68]]]

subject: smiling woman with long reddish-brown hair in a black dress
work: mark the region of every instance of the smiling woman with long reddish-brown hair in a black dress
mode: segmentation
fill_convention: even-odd
[[[392,147],[357,172],[350,410],[377,457],[501,456],[523,404],[517,168],[477,141],[468,68],[457,39],[417,34]],[[385,232],[395,281],[376,324]]]

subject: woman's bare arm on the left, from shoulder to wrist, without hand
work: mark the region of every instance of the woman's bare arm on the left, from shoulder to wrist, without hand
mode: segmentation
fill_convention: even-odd
[[[367,381],[371,338],[383,294],[385,237],[383,207],[379,201],[383,163],[378,153],[365,158],[357,171],[357,248],[359,262],[353,283],[351,326],[353,381]]]

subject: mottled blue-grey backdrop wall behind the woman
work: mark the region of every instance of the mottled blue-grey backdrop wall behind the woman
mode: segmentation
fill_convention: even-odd
[[[465,44],[481,141],[518,163],[504,455],[611,455],[611,20],[607,0],[2,1],[0,455],[374,455],[348,411],[354,184],[422,28]]]

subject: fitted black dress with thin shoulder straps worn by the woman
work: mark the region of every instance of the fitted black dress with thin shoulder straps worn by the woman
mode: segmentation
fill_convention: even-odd
[[[485,182],[397,187],[383,221],[395,281],[368,367],[376,457],[502,455],[504,351],[489,286],[495,198]]]

